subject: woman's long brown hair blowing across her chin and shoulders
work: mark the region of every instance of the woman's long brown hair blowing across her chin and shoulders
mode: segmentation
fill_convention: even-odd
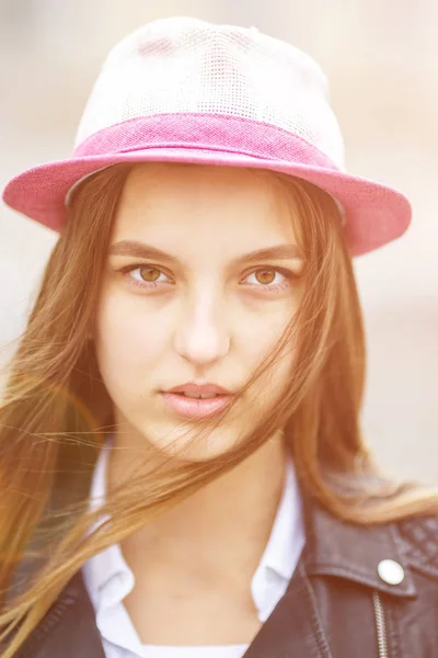
[[[285,186],[291,217],[299,218],[306,286],[293,321],[247,387],[293,340],[297,359],[287,395],[227,458],[180,464],[165,477],[143,474],[108,495],[100,511],[88,510],[91,473],[105,435],[114,431],[112,402],[89,337],[130,169],[100,171],[76,191],[8,368],[0,407],[0,642],[11,634],[13,639],[0,658],[15,654],[91,556],[231,469],[278,429],[285,431],[303,495],[332,514],[370,524],[438,509],[435,491],[373,477],[379,473],[359,428],[361,310],[335,202],[306,181],[265,172]],[[101,514],[111,519],[90,532]],[[16,568],[26,559],[38,568],[8,600]]]

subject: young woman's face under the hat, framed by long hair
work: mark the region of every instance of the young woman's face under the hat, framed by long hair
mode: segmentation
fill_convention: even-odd
[[[189,382],[239,394],[275,345],[300,297],[290,213],[266,172],[160,163],[130,172],[95,327],[123,441],[203,461],[235,445],[281,397],[292,345],[201,445],[191,441],[198,420],[163,394]]]

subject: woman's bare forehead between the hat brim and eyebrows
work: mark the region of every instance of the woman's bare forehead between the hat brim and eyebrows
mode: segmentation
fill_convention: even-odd
[[[114,239],[174,242],[290,240],[291,206],[268,171],[178,163],[136,166],[125,183]]]

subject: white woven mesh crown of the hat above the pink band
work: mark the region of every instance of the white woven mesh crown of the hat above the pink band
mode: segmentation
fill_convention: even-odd
[[[154,21],[110,52],[74,146],[111,126],[165,114],[209,114],[266,123],[302,138],[345,170],[328,83],[302,50],[254,27],[191,18]]]

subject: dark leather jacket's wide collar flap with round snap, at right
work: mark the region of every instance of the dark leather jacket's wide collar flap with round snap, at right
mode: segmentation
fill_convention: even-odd
[[[415,597],[416,587],[395,523],[359,525],[333,517],[303,497],[304,568],[309,576],[337,576],[393,597]],[[379,564],[394,560],[404,578],[390,585],[379,576]]]

